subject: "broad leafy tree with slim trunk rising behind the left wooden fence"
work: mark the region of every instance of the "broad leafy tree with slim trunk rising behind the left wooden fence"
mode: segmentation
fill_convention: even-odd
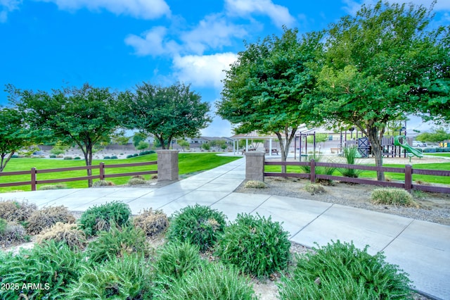
[[[26,113],[30,130],[41,141],[76,144],[82,150],[86,165],[92,164],[94,145],[109,139],[118,121],[117,98],[108,88],[64,87],[48,92],[15,89],[8,85],[10,101]],[[87,170],[92,175],[92,170]],[[89,187],[92,180],[88,180]]]

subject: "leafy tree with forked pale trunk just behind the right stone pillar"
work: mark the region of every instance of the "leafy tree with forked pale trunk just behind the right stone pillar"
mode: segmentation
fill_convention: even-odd
[[[297,127],[307,113],[299,106],[314,87],[309,63],[321,50],[321,34],[297,38],[297,30],[284,28],[282,37],[266,37],[245,44],[246,50],[226,71],[217,114],[236,127],[236,133],[274,132],[281,158],[288,156]]]

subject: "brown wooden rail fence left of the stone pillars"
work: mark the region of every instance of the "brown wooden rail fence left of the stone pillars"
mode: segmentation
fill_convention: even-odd
[[[4,176],[12,176],[12,175],[30,175],[30,181],[22,181],[22,182],[8,182],[8,183],[0,183],[0,187],[16,187],[20,185],[31,185],[31,190],[35,191],[37,185],[48,184],[48,183],[58,183],[58,182],[70,182],[70,181],[78,181],[78,180],[89,180],[89,179],[99,179],[104,180],[105,178],[110,177],[122,177],[122,176],[134,176],[134,175],[148,175],[148,174],[158,174],[158,170],[152,171],[138,171],[138,172],[128,172],[128,173],[113,173],[106,174],[105,170],[109,168],[127,168],[127,167],[138,167],[142,165],[156,165],[158,161],[148,161],[144,163],[122,163],[117,165],[105,165],[105,163],[99,163],[98,165],[86,165],[82,167],[72,167],[72,168],[56,168],[56,169],[44,169],[37,170],[36,168],[32,168],[28,171],[16,171],[16,172],[2,172],[0,173],[0,177]],[[69,177],[69,178],[58,178],[58,179],[50,179],[50,180],[38,180],[38,174],[44,173],[60,173],[67,171],[75,171],[75,170],[94,170],[98,169],[98,175],[91,176],[82,176],[82,177]]]

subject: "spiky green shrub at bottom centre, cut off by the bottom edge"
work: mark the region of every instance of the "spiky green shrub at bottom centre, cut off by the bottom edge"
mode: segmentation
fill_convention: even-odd
[[[221,263],[204,263],[203,270],[186,275],[177,281],[166,294],[158,296],[159,299],[167,300],[257,299],[248,280],[239,276],[236,269],[227,268]]]

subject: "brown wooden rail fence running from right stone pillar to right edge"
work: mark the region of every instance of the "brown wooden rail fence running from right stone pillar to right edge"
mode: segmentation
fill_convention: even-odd
[[[435,175],[435,176],[450,176],[450,170],[423,170],[413,169],[411,165],[405,165],[405,168],[390,168],[390,167],[375,167],[370,165],[347,165],[345,163],[318,163],[311,159],[309,162],[298,161],[265,161],[264,165],[309,165],[311,167],[311,173],[270,173],[264,172],[264,176],[276,176],[276,177],[298,177],[308,178],[311,182],[316,182],[318,179],[323,180],[338,180],[342,182],[352,182],[364,185],[379,185],[381,187],[398,187],[406,189],[411,192],[411,189],[418,189],[425,192],[439,192],[450,193],[450,187],[437,187],[432,185],[416,185],[413,184],[413,174],[421,175]],[[316,167],[331,167],[331,168],[346,168],[356,170],[371,170],[371,171],[383,171],[390,173],[404,173],[404,182],[387,182],[378,181],[364,178],[353,178],[334,175],[321,175],[316,174]]]

